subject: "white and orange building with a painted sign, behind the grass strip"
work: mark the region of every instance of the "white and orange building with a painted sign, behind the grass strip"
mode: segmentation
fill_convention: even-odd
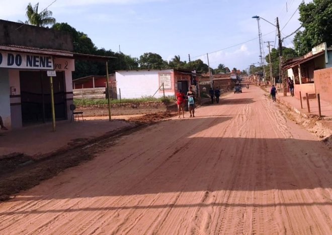
[[[125,70],[115,73],[121,98],[162,97],[163,93],[174,96],[178,89],[187,93],[189,86],[197,84],[198,76],[200,74],[189,69]]]

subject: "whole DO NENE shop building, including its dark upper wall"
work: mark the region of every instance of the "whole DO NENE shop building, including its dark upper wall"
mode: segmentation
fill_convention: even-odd
[[[70,118],[74,60],[106,59],[72,51],[69,33],[0,20],[0,115],[6,127],[53,120],[51,103],[56,120]],[[47,71],[53,71],[52,86]]]

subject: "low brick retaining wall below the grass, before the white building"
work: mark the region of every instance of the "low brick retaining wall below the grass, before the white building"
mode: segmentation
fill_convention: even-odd
[[[156,113],[164,111],[176,111],[177,106],[174,102],[165,105],[161,101],[141,102],[141,103],[122,103],[111,104],[112,115],[131,115],[131,114],[145,114]],[[108,116],[107,104],[93,104],[93,105],[76,105],[75,111],[83,111],[84,116]]]

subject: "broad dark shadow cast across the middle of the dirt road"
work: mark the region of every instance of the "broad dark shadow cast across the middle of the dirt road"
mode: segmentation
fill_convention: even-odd
[[[196,134],[212,127],[218,128],[219,124],[231,119],[231,116],[216,115],[214,118],[170,120],[167,122],[172,122],[174,125],[172,129],[168,130],[167,135],[158,136],[151,130],[143,130],[143,133],[140,132],[140,134],[133,133],[133,135],[140,135],[137,140],[119,144],[119,146],[136,144],[127,146],[126,148],[129,149],[125,153],[103,154],[89,163],[89,166],[69,169],[66,179],[71,178],[70,181],[57,185],[53,185],[52,180],[45,182],[38,187],[38,191],[44,193],[36,194],[36,192],[27,191],[23,197],[17,196],[14,200],[93,198],[220,190],[242,192],[332,188],[329,170],[332,165],[332,154],[328,150],[326,153],[329,154],[326,155],[315,153],[315,149],[322,148],[319,141],[225,138],[213,133],[207,137],[196,137]],[[160,131],[162,130],[161,125],[163,124],[157,125],[155,128]],[[153,128],[152,126],[151,129]],[[177,138],[178,131],[182,129],[186,129],[187,134],[185,137]],[[144,144],[144,139],[140,138],[143,136],[146,140],[154,137],[148,148],[146,143]],[[140,143],[141,146],[139,146]],[[299,146],[303,148],[294,149]],[[101,146],[97,147],[101,148]],[[120,147],[115,146],[114,148]],[[77,154],[84,155],[84,151],[80,150]],[[96,152],[98,151],[96,150]],[[44,164],[40,167],[51,167],[54,162]],[[81,174],[80,169],[84,169],[85,174]],[[61,179],[57,181],[59,180]],[[299,203],[291,202],[288,204],[299,205]],[[315,204],[303,203],[303,205]],[[324,202],[324,204],[331,205],[332,203]],[[159,206],[167,207],[169,205]],[[234,204],[234,206],[241,205]],[[118,207],[109,207],[109,209],[116,208]],[[86,208],[86,210],[98,210],[98,208]],[[25,212],[3,212],[0,215],[11,213]],[[43,212],[38,211],[38,213]]]

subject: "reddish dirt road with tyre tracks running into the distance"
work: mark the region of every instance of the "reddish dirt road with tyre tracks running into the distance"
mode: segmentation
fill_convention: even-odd
[[[330,149],[254,86],[196,115],[0,204],[0,233],[331,233]]]

